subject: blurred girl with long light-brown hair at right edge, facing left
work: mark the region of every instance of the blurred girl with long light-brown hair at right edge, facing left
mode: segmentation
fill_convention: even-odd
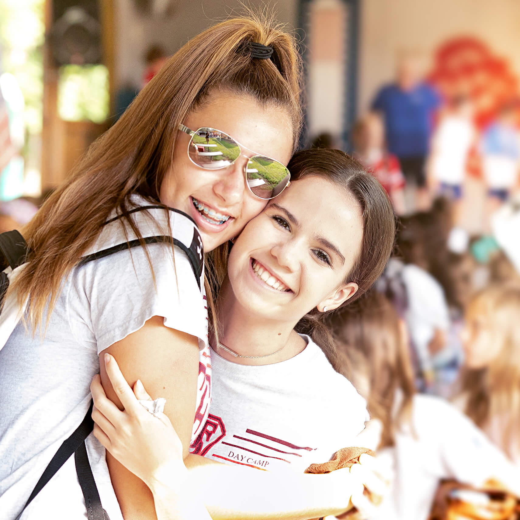
[[[520,469],[520,285],[490,285],[466,310],[454,400]],[[520,482],[520,480],[519,480]]]

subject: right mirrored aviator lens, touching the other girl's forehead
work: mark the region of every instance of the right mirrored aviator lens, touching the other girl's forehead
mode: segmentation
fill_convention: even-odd
[[[261,199],[272,199],[283,191],[289,182],[289,170],[278,161],[255,155],[247,166],[245,173],[251,191]]]

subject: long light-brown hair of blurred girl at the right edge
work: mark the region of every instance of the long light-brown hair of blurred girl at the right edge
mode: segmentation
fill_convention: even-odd
[[[463,370],[464,411],[485,430],[498,420],[501,438],[496,442],[512,455],[520,449],[520,285],[491,285],[473,298],[468,310],[484,315],[499,354],[486,368]]]

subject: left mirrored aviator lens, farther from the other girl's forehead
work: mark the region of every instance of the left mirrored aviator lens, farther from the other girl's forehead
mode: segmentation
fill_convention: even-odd
[[[207,170],[229,166],[240,155],[240,147],[224,132],[215,128],[199,128],[191,136],[190,159]]]

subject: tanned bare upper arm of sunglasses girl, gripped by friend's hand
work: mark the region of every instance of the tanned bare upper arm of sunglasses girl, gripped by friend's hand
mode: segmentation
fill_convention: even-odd
[[[197,399],[197,338],[165,327],[163,318],[154,316],[141,329],[103,350],[100,354],[101,383],[107,397],[122,409],[105,370],[105,353],[118,360],[130,385],[133,386],[139,377],[152,398],[166,398],[164,413],[172,422],[186,457]],[[125,520],[154,519],[155,506],[148,486],[108,452],[107,464]]]

